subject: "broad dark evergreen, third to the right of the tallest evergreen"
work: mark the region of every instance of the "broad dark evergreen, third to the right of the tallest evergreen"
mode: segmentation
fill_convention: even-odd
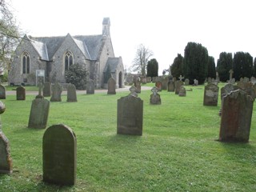
[[[237,52],[233,58],[234,78],[238,81],[240,78],[251,78],[254,71],[253,57],[249,53]]]

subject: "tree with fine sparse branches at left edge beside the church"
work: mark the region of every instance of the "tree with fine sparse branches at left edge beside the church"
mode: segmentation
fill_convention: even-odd
[[[8,70],[20,38],[19,28],[6,0],[0,0],[0,68]]]

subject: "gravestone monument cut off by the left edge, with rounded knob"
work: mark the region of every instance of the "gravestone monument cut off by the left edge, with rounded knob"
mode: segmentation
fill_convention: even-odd
[[[6,106],[0,101],[0,114],[5,112]],[[13,172],[13,162],[10,158],[10,144],[6,135],[2,132],[2,122],[0,119],[0,173],[11,174]]]

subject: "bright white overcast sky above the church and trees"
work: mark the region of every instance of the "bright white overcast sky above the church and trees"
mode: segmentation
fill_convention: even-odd
[[[7,0],[6,0],[7,1]],[[254,0],[10,0],[14,16],[34,37],[102,34],[110,18],[115,57],[126,69],[143,44],[169,69],[188,42],[205,46],[215,64],[222,52],[256,57]]]

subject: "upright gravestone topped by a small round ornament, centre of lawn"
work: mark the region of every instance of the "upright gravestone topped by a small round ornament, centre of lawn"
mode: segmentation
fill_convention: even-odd
[[[136,95],[134,86],[131,93],[118,99],[118,134],[142,135],[143,101]]]

